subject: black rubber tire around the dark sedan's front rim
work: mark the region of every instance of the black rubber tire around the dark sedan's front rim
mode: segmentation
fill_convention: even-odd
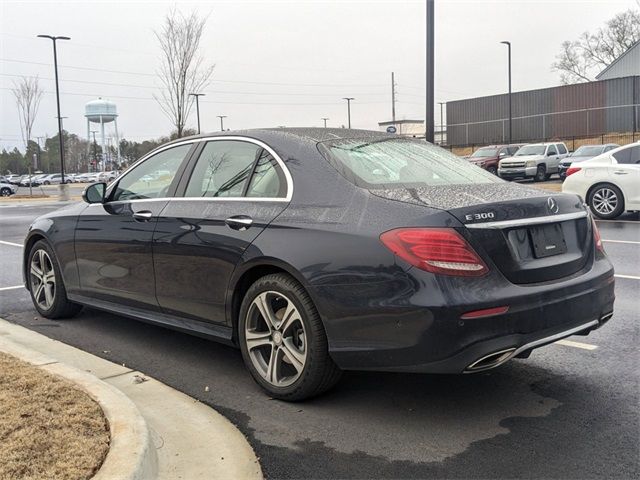
[[[40,251],[44,251],[48,257],[48,263],[52,268],[53,276],[55,279],[55,285],[53,288],[53,295],[51,295],[53,301],[47,308],[41,305],[36,294],[38,293],[38,279],[31,273],[31,266],[34,256],[38,255]],[[44,268],[42,269],[45,270]],[[27,282],[29,284],[29,292],[31,294],[31,301],[38,313],[45,318],[58,319],[58,318],[71,318],[82,310],[82,305],[73,303],[67,298],[67,291],[62,280],[62,274],[60,273],[60,266],[58,265],[58,259],[51,246],[44,240],[39,240],[34,243],[29,252],[27,262]],[[39,296],[39,298],[42,298]]]

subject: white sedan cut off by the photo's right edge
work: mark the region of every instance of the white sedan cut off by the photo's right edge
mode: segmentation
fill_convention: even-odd
[[[640,210],[640,142],[571,165],[562,191],[580,195],[598,218]]]

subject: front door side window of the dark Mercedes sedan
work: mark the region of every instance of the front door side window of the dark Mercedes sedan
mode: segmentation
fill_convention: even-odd
[[[190,148],[190,144],[180,145],[147,158],[120,179],[111,200],[165,197]]]

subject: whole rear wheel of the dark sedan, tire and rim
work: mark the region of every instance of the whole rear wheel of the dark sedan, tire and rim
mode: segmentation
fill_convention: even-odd
[[[273,398],[304,400],[340,379],[320,316],[302,285],[288,275],[267,275],[249,288],[238,338],[249,372]]]

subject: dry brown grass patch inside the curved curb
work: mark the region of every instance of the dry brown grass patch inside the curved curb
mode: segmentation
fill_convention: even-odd
[[[88,479],[109,451],[100,406],[73,383],[0,352],[0,479]]]

